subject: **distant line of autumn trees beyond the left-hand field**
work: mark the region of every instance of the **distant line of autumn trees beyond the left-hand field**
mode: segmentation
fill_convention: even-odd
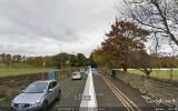
[[[11,63],[28,63],[33,68],[42,68],[43,63],[46,68],[67,68],[67,67],[97,67],[92,60],[92,54],[86,58],[82,53],[69,54],[61,52],[56,56],[46,57],[26,57],[20,54],[0,54],[0,62],[6,65],[11,65]]]

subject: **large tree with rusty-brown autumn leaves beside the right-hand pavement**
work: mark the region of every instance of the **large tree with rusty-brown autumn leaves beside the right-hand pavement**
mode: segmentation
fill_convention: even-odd
[[[112,60],[115,65],[121,65],[127,71],[130,65],[129,52],[145,48],[144,42],[149,32],[138,28],[135,23],[117,21],[111,26],[111,31],[102,43],[102,54]]]

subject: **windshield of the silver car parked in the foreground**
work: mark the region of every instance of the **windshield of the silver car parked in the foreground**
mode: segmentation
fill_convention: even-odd
[[[23,92],[24,93],[42,93],[47,91],[48,83],[32,83]]]

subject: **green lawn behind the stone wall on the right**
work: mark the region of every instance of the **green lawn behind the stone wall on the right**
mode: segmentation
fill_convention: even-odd
[[[129,70],[128,72],[145,75],[145,73],[139,70]],[[156,78],[170,79],[170,71],[156,70],[152,71],[150,75]],[[178,70],[172,71],[172,79],[178,80]]]

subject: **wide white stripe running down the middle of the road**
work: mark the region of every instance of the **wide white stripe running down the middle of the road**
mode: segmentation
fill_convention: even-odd
[[[91,69],[89,69],[79,111],[98,111]]]

